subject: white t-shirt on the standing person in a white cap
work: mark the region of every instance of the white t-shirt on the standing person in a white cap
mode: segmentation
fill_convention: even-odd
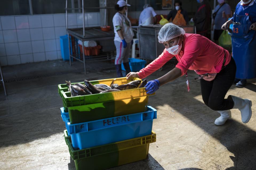
[[[131,28],[130,20],[120,12],[117,12],[113,17],[113,26],[115,32],[115,39],[114,41],[122,42],[121,38],[119,37],[117,31],[122,30],[123,37],[127,43],[130,43],[133,39],[134,33],[133,29]]]

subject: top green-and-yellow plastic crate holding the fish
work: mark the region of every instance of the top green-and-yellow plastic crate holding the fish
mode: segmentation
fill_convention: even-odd
[[[134,78],[134,80],[137,79]],[[90,82],[110,86],[113,80],[104,79]],[[116,78],[114,83],[126,84],[130,81],[124,77]],[[80,83],[84,84],[84,82]],[[149,96],[149,94],[146,94],[145,88],[71,97],[67,84],[59,84],[58,91],[62,97],[65,112],[69,112],[71,124],[145,112]]]

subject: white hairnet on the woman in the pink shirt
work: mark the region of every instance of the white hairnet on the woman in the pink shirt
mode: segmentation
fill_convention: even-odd
[[[173,23],[167,23],[163,25],[158,33],[158,42],[163,43],[180,35],[184,35],[185,33],[186,32],[183,28],[180,28]]]

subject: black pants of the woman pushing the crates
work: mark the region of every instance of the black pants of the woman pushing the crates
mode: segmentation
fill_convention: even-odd
[[[214,111],[225,111],[234,107],[234,102],[229,96],[224,99],[227,91],[235,79],[236,65],[233,57],[215,77],[213,81],[200,79],[203,102]]]

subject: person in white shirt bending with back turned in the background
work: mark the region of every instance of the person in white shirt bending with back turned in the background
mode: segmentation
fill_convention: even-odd
[[[139,15],[139,26],[155,24],[157,22],[157,14],[148,3],[143,6],[144,10]]]

